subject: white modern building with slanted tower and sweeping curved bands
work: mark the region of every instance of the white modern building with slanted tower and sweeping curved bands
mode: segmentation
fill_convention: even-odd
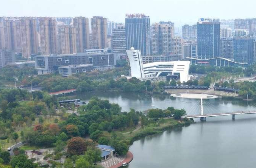
[[[143,79],[147,77],[174,75],[179,76],[181,82],[187,82],[187,80],[190,79],[189,61],[152,62],[143,64],[140,50],[134,50],[132,47],[130,50],[126,50],[126,52],[131,66],[131,77]]]

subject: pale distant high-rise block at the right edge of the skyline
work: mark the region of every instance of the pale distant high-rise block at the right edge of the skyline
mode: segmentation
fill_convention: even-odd
[[[235,29],[246,29],[249,34],[256,34],[256,18],[235,19]]]

